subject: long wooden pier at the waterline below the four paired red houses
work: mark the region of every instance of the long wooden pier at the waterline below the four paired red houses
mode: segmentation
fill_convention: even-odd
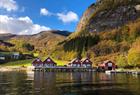
[[[45,68],[34,68],[33,71],[45,71],[45,72],[92,72],[94,68],[83,68],[83,67],[45,67]]]

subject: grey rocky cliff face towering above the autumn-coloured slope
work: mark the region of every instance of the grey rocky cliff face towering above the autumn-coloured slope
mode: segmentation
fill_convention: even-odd
[[[140,0],[98,0],[83,14],[76,31],[105,31],[140,17]]]

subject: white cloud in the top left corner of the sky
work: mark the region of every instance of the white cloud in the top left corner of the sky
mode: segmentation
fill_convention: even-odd
[[[6,11],[16,11],[18,5],[14,0],[0,0],[0,9],[5,9]]]

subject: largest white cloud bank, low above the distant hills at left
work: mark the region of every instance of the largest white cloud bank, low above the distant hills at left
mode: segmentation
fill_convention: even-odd
[[[0,33],[36,34],[44,30],[50,30],[50,28],[34,24],[28,16],[14,18],[0,15]]]

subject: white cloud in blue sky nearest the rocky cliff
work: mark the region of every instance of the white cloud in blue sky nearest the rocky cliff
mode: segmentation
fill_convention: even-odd
[[[70,23],[78,21],[78,15],[72,11],[67,13],[57,13],[58,19],[60,19],[63,23]]]

